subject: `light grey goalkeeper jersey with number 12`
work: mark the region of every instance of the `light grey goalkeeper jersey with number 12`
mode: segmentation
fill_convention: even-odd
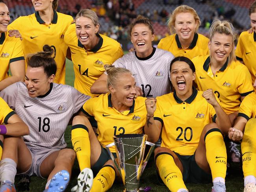
[[[168,51],[153,48],[146,58],[139,58],[136,52],[130,52],[117,59],[113,65],[129,69],[134,75],[136,85],[143,91],[143,96],[156,98],[171,90],[170,63],[174,56]]]

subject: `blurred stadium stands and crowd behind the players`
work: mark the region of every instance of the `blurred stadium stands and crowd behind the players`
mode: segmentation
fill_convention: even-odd
[[[124,50],[132,44],[128,40],[127,26],[137,15],[150,18],[155,30],[157,45],[169,35],[166,26],[169,14],[179,5],[193,7],[200,19],[199,33],[208,35],[215,18],[228,19],[239,35],[249,29],[249,7],[254,0],[59,0],[58,11],[76,16],[80,9],[93,9],[100,20],[100,33],[116,39]],[[7,0],[11,21],[22,15],[34,13],[31,0]]]

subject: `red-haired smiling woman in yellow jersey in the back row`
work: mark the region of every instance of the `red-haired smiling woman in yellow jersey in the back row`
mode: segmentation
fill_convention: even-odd
[[[199,26],[200,18],[195,9],[186,5],[176,7],[168,22],[172,35],[161,39],[158,48],[171,52],[175,57],[189,59],[208,54],[209,39],[197,33]]]

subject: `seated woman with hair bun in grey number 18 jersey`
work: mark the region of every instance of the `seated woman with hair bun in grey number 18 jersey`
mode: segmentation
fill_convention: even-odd
[[[46,192],[64,191],[69,183],[75,152],[66,148],[64,132],[72,115],[89,99],[69,85],[52,83],[57,71],[53,54],[45,45],[43,52],[30,55],[25,83],[14,83],[0,92],[30,129],[23,138],[5,138],[0,179],[14,181],[17,168],[19,174],[48,177]],[[13,183],[9,186],[15,190]]]

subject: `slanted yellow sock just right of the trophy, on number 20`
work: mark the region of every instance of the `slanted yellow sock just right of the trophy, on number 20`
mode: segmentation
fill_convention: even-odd
[[[176,192],[180,188],[187,189],[182,173],[170,153],[158,153],[156,156],[156,166],[158,167],[161,179],[171,192]]]

